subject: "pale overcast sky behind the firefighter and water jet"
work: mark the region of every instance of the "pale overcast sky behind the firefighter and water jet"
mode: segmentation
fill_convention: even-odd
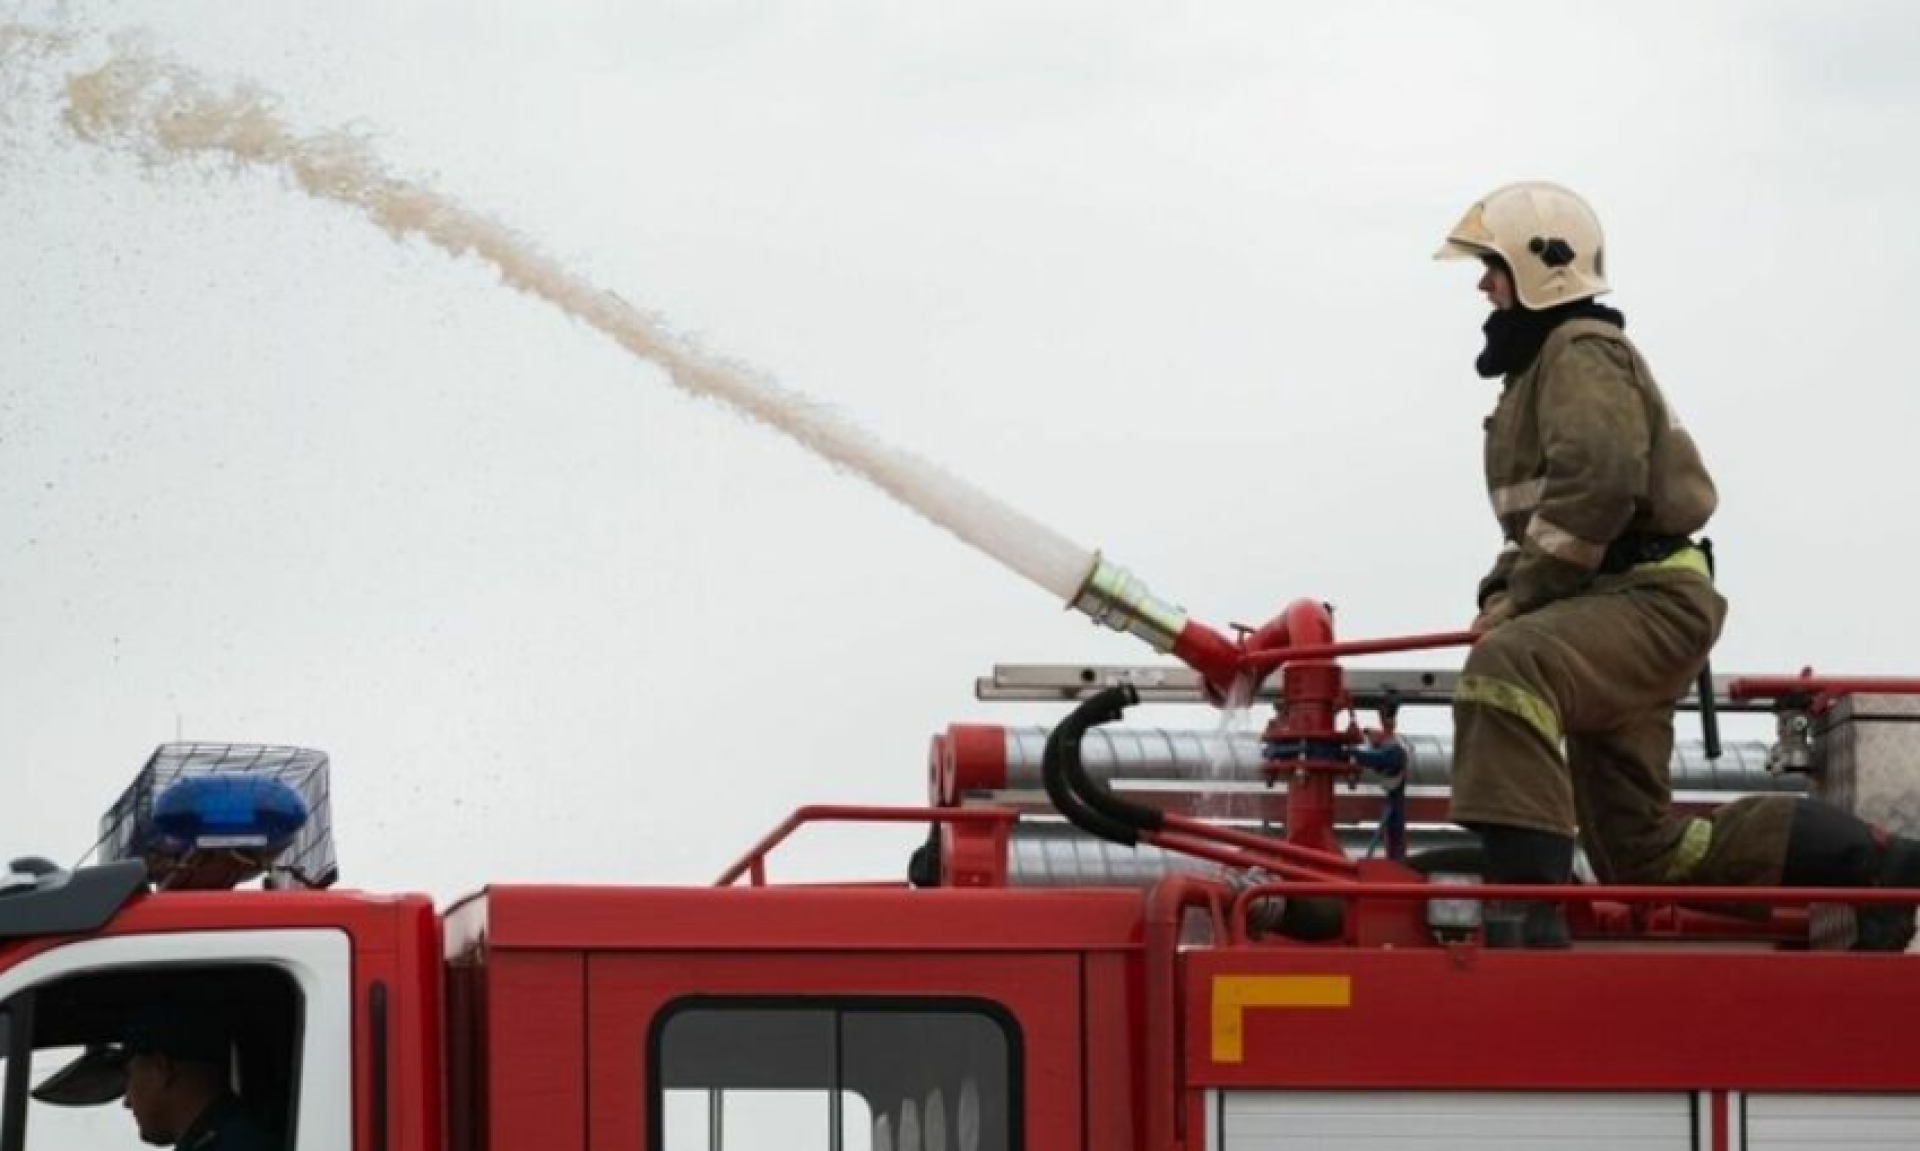
[[[1557,179],[1720,482],[1718,669],[1916,671],[1908,6],[12,12],[359,125],[1221,626],[1465,623],[1494,384],[1428,254]],[[355,886],[705,882],[1056,715],[991,663],[1150,655],[476,263],[0,98],[0,851],[179,730],[328,749]],[[899,870],[837,844],[795,869]]]

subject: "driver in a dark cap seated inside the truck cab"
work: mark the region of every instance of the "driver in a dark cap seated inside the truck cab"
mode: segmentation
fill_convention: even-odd
[[[177,1151],[278,1151],[228,1088],[232,1040],[202,1011],[154,1005],[127,1028],[127,1111],[140,1139]]]

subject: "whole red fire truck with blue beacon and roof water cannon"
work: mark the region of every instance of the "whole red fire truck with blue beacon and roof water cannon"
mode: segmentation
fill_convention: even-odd
[[[132,1145],[106,1105],[154,1003],[223,1022],[298,1151],[1920,1147],[1920,961],[1847,949],[1912,892],[1484,884],[1450,740],[1400,726],[1452,673],[1342,663],[1467,636],[1340,642],[1302,600],[1229,640],[1104,563],[1077,605],[1181,663],[998,667],[983,699],[1058,722],[952,724],[925,805],[801,809],[703,888],[342,890],[324,755],[159,747],[100,863],[4,872],[0,1151]],[[1123,722],[1223,692],[1258,730]],[[1920,820],[1916,680],[1678,705],[1686,809]],[[774,876],[839,822],[927,838],[899,878]],[[1517,895],[1572,947],[1486,947]]]

